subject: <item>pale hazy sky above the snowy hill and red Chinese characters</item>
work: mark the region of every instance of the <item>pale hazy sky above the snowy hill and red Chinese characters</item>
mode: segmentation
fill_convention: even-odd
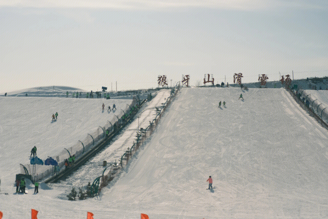
[[[2,0],[0,93],[328,76],[327,20],[326,0]]]

